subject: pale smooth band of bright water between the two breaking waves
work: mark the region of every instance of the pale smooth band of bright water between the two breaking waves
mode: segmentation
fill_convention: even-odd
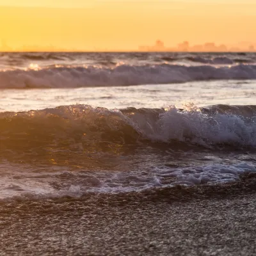
[[[193,102],[198,107],[214,104],[255,104],[254,80],[197,81],[182,84],[151,84],[61,89],[0,90],[0,111],[29,111],[63,105],[88,104],[108,109],[166,108]]]

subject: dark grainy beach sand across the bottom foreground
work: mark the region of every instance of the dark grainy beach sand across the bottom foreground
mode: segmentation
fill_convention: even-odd
[[[256,255],[256,177],[0,204],[0,255]]]

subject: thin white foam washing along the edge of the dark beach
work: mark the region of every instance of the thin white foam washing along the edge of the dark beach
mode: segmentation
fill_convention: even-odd
[[[143,175],[138,172],[118,172],[109,174],[94,173],[88,182],[81,179],[79,173],[72,174],[72,181],[65,184],[65,188],[50,188],[47,180],[42,180],[41,186],[33,184],[26,191],[12,191],[12,196],[3,194],[0,190],[2,201],[10,200],[38,200],[45,198],[72,197],[79,198],[88,193],[127,193],[131,191],[143,191],[150,188],[166,188],[176,185],[195,186],[199,184],[218,184],[239,180],[239,175],[256,172],[255,165],[241,162],[239,164],[208,164],[205,166],[186,166],[186,168],[157,167]],[[98,176],[98,177],[97,177]],[[76,179],[74,179],[76,177]],[[48,180],[57,180],[56,176],[48,177]],[[58,177],[58,182],[65,183]],[[167,182],[166,182],[167,180]],[[96,181],[96,182],[95,182]],[[31,183],[32,184],[32,183]],[[47,184],[47,185],[46,185]],[[49,187],[48,189],[45,186]],[[11,189],[11,188],[9,188]]]

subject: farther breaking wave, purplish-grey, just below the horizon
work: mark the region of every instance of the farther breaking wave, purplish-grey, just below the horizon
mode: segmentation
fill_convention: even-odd
[[[108,67],[44,67],[0,72],[0,88],[77,88],[185,83],[212,79],[256,79],[256,65],[120,65]]]

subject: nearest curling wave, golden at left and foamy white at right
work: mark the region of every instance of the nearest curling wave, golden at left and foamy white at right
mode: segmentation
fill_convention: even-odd
[[[1,152],[108,150],[143,141],[215,147],[256,147],[256,106],[185,109],[93,108],[86,105],[0,113]],[[175,149],[175,148],[174,148]]]

